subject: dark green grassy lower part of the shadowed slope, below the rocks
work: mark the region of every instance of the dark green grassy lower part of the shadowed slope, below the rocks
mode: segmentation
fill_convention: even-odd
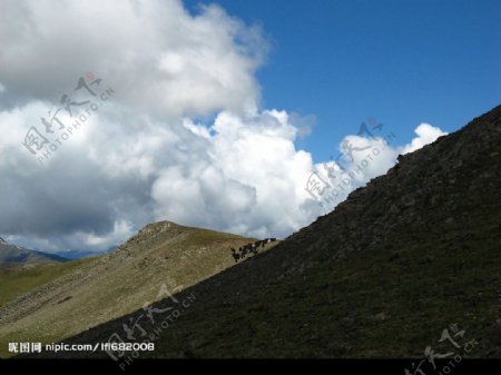
[[[413,240],[415,233],[399,234],[395,241],[411,245],[395,247],[389,238],[387,250],[354,253],[240,295],[235,279],[253,279],[254,270],[234,267],[215,277],[219,284],[208,280],[206,287],[180,294],[179,299],[190,293],[197,299],[163,330],[155,353],[141,357],[419,358],[426,346],[438,353],[451,349],[438,341],[452,324],[466,330],[465,339],[480,343],[469,356],[501,357],[501,332],[494,324],[501,317],[499,238],[484,236],[500,220],[498,215],[468,236],[425,233],[428,240],[421,243]],[[451,246],[460,243],[464,246]],[[166,306],[173,304],[156,305]],[[106,342],[115,332],[125,337],[127,319],[73,341]],[[143,327],[148,333],[158,328]]]

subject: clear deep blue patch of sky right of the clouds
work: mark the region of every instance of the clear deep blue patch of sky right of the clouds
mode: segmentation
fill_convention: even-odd
[[[315,115],[298,142],[327,160],[374,117],[404,144],[421,122],[451,132],[501,102],[500,1],[218,0],[271,40],[263,107]]]

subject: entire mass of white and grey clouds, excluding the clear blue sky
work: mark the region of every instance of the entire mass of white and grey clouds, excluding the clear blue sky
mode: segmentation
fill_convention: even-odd
[[[382,138],[347,136],[340,151],[353,178],[322,207],[305,189],[312,172],[332,184],[345,171],[297,149],[313,117],[259,107],[255,71],[267,42],[216,6],[194,14],[178,0],[7,0],[0,12],[0,234],[20,245],[104,250],[164,219],[284,237],[401,152]],[[112,95],[81,96],[80,77]],[[63,107],[65,93],[98,109],[62,110],[63,127],[48,134],[41,118]],[[37,155],[22,145],[31,127],[49,142]],[[404,149],[436,130],[420,126]]]

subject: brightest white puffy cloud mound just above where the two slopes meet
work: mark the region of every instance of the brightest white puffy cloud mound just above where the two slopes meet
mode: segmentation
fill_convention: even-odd
[[[295,149],[297,129],[287,120],[275,110],[246,119],[219,114],[195,164],[168,168],[154,182],[157,218],[255,236],[284,236],[312,220],[320,210],[302,210],[311,157]]]

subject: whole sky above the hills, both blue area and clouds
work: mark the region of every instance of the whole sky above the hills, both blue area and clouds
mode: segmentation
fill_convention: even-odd
[[[46,251],[106,250],[159,220],[285,238],[501,101],[499,1],[2,0],[0,14],[0,236]],[[84,76],[115,93],[70,131],[60,99]],[[316,118],[311,135],[293,114]],[[383,150],[353,137],[370,117],[396,138],[358,169]],[[327,201],[343,171],[322,162],[342,141],[362,171]],[[331,193],[307,189],[320,175]]]

